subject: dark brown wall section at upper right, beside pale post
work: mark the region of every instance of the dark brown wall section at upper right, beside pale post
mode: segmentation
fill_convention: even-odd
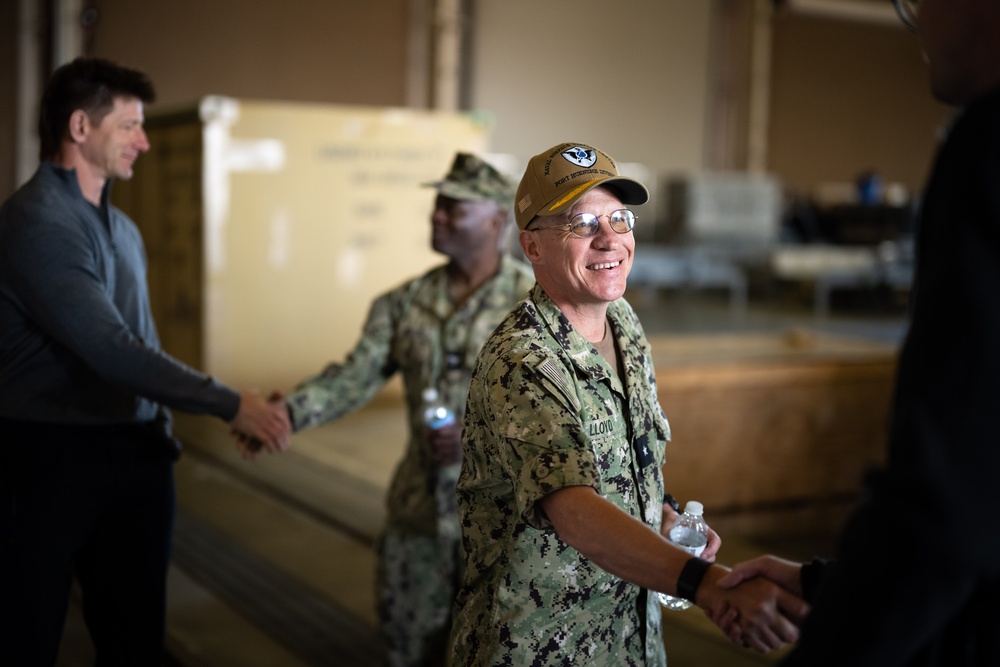
[[[923,186],[942,123],[916,38],[872,26],[779,14],[774,21],[770,169],[811,191],[877,169]]]

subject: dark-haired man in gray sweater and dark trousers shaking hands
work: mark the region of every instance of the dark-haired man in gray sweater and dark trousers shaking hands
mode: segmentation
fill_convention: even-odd
[[[283,402],[165,354],[135,224],[109,201],[149,149],[140,72],[99,59],[46,87],[42,163],[0,209],[0,664],[52,665],[70,583],[97,664],[159,665],[179,445],[168,408],[272,451]]]

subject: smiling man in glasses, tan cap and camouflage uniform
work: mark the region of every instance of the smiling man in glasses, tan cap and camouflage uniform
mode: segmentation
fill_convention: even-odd
[[[621,298],[634,250],[625,205],[647,197],[582,144],[535,156],[521,181],[515,217],[537,284],[483,347],[469,389],[455,667],[665,665],[650,590],[734,609],[780,635],[775,645],[794,636],[776,611],[799,602],[789,594],[712,584],[725,572],[710,565],[718,535],[694,558],[660,532],[670,429]]]

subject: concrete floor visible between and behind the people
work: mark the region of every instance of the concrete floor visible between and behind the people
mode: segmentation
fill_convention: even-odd
[[[899,312],[884,309],[817,318],[793,303],[736,313],[724,298],[684,294],[635,305],[651,334],[805,327],[895,344],[905,330]],[[189,667],[377,664],[371,544],[404,440],[398,403],[377,400],[254,463],[236,455],[217,420],[179,416],[178,431],[187,450],[176,468],[172,659]],[[834,532],[768,542],[724,535],[719,560],[805,559],[829,553]],[[697,609],[665,612],[665,626],[671,667],[774,664],[781,655],[732,646]],[[74,605],[58,665],[91,661]]]

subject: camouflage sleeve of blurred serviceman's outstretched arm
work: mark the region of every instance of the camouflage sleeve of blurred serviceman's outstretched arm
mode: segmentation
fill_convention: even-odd
[[[367,404],[398,370],[392,359],[393,316],[391,294],[372,304],[361,339],[342,363],[295,387],[288,397],[296,431],[339,419]]]

